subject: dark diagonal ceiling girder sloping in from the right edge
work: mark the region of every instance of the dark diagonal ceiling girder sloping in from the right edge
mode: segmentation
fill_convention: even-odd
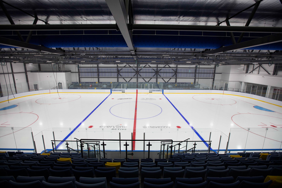
[[[282,41],[282,34],[278,33],[278,34],[272,34],[272,35],[268,35],[265,37],[261,37],[258,39],[253,39],[253,40],[248,40],[248,41],[237,43],[237,44],[232,44],[230,46],[225,46],[225,47],[214,49],[214,50],[208,50],[203,53],[204,54],[217,54],[217,53],[221,53],[225,51],[251,48],[254,46],[272,44],[272,43],[281,42],[281,41]]]

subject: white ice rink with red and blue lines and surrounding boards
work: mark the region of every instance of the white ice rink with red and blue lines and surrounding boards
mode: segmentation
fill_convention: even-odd
[[[56,140],[209,140],[212,149],[281,149],[282,102],[217,90],[44,90],[0,98],[1,148],[52,149]],[[13,127],[13,129],[11,128]],[[76,145],[70,145],[76,148]],[[190,146],[189,146],[190,147]],[[65,149],[65,143],[57,143]],[[129,146],[142,150],[142,143]],[[119,150],[109,143],[106,150]],[[152,146],[159,149],[159,144]],[[207,149],[207,143],[196,149]]]

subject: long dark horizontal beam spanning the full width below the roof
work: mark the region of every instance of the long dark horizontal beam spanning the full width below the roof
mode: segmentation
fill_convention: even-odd
[[[118,22],[117,22],[118,23]],[[127,28],[127,24],[126,27]],[[118,26],[122,31],[120,26]],[[126,29],[125,28],[125,29]],[[133,30],[166,30],[166,31],[215,31],[215,32],[251,32],[282,33],[281,27],[245,27],[214,25],[166,25],[166,24],[132,24]],[[115,24],[26,24],[1,25],[0,31],[38,31],[38,30],[117,30]],[[122,32],[123,34],[123,32]],[[128,31],[128,35],[130,32]]]

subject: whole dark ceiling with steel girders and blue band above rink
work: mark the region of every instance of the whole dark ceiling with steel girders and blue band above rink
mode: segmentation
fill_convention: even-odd
[[[7,62],[282,63],[279,0],[0,2],[0,55]]]

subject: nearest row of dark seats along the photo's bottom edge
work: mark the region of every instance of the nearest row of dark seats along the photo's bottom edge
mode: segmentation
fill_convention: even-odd
[[[245,187],[279,187],[281,186],[281,176],[263,176],[242,177],[239,176],[235,182],[233,177],[213,178],[209,177],[206,180],[199,178],[176,178],[173,182],[170,178],[154,179],[145,178],[144,188],[245,188]],[[18,176],[14,179],[13,176],[2,178],[0,177],[0,185],[4,187],[37,187],[37,188],[107,188],[105,178],[87,178],[81,177],[79,181],[72,177],[58,178],[50,176],[48,181],[43,176],[25,177]],[[111,188],[139,188],[140,183],[138,178],[113,178],[109,182]]]

